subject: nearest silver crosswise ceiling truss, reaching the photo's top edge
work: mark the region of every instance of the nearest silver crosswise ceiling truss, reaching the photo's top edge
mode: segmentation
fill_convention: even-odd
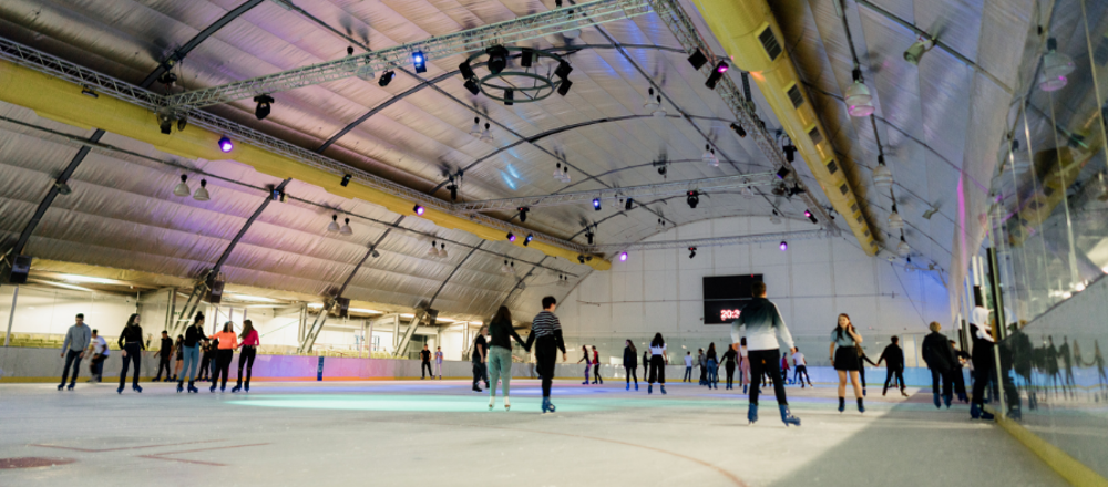
[[[193,90],[166,97],[166,104],[176,113],[187,111],[187,107],[228,103],[411,64],[412,53],[417,51],[422,52],[424,59],[449,58],[649,12],[647,0],[596,0],[310,66]]]

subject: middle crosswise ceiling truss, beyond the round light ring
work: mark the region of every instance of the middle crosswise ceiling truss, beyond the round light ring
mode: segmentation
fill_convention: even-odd
[[[680,195],[694,189],[701,193],[710,193],[716,189],[772,185],[779,180],[780,179],[777,178],[774,173],[753,173],[737,176],[720,176],[704,179],[632,186],[625,188],[604,188],[599,190],[556,193],[544,196],[524,196],[519,198],[456,203],[454,204],[454,208],[463,213],[516,209],[521,207],[543,208],[550,206],[574,205],[582,201],[591,201],[593,199],[599,199],[603,201],[618,200],[622,198],[640,198],[644,196],[671,196]]]

